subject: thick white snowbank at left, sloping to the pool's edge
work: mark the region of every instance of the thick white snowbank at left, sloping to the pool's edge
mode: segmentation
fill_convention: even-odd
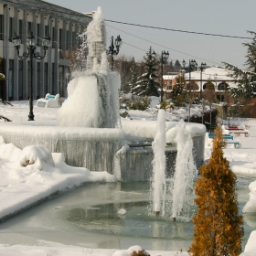
[[[91,172],[66,165],[64,157],[42,145],[20,150],[13,144],[0,144],[0,219],[15,214],[50,195],[85,182],[114,182],[107,172]],[[15,195],[15,197],[14,197]]]

